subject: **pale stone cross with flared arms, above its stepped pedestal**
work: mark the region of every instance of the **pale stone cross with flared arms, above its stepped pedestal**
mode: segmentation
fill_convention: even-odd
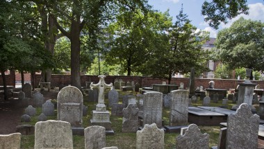
[[[91,83],[90,88],[97,88],[99,90],[98,104],[104,104],[104,90],[107,88],[110,88],[110,90],[112,90],[113,83],[111,82],[109,85],[107,85],[106,82],[104,82],[104,78],[106,78],[106,76],[104,75],[100,75],[98,76],[98,78],[99,82],[97,84]]]

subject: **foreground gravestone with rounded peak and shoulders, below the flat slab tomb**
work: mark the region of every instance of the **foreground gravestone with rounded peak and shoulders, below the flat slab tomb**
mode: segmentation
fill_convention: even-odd
[[[209,148],[209,134],[201,134],[195,124],[191,124],[185,134],[176,137],[177,149],[205,149]]]

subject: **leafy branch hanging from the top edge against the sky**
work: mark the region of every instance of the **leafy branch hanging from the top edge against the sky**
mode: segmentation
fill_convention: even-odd
[[[204,1],[201,6],[201,14],[205,16],[204,21],[208,21],[209,26],[215,29],[218,29],[221,22],[226,24],[227,19],[232,19],[242,13],[248,15],[248,10],[247,0]]]

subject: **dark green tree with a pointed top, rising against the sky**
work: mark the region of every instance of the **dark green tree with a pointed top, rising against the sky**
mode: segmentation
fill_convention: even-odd
[[[146,69],[152,76],[166,78],[169,83],[175,73],[188,73],[192,67],[205,70],[206,65],[202,63],[206,51],[201,50],[201,45],[206,40],[208,33],[197,32],[182,8],[168,34],[156,41],[158,48],[149,58]]]

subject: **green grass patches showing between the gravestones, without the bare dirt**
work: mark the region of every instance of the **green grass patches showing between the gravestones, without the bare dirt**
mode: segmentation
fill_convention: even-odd
[[[119,90],[117,90],[119,91]],[[124,95],[126,92],[119,91],[119,95]],[[133,93],[135,95],[135,93]],[[106,100],[106,106],[108,106],[108,100]],[[199,98],[198,98],[199,99]],[[92,118],[92,109],[94,109],[94,105],[96,103],[94,102],[88,102],[88,96],[83,96],[84,105],[88,106],[88,116],[83,116],[83,128],[87,128],[90,123],[90,119]],[[53,103],[56,103],[56,99],[53,99]],[[122,98],[119,98],[119,103],[122,103]],[[201,106],[202,101],[198,100],[197,103],[193,104],[194,106]],[[211,106],[220,106],[222,103],[211,103]],[[233,103],[229,101],[228,109],[231,109]],[[36,116],[31,117],[30,123],[21,123],[21,124],[27,124],[27,125],[35,125],[35,123],[38,121],[38,116],[41,114],[42,108],[36,108],[37,114]],[[107,107],[109,111],[110,108]],[[47,119],[53,119],[56,120],[56,111],[54,116],[48,116]],[[165,125],[168,125],[169,123],[169,114],[170,109],[169,108],[163,108],[163,120]],[[119,149],[126,149],[126,148],[135,148],[135,140],[136,140],[136,134],[135,133],[123,133],[122,132],[122,117],[121,116],[110,116],[110,121],[112,122],[112,128],[115,131],[115,135],[113,136],[106,136],[106,146],[117,146]],[[210,134],[210,144],[209,146],[217,146],[218,136],[219,136],[219,130],[220,126],[199,126],[199,129],[202,133],[208,133]],[[179,133],[165,133],[165,148],[171,149],[175,148],[176,146],[176,137],[179,135]],[[73,142],[74,142],[74,148],[85,148],[84,147],[84,137],[81,136],[74,136]],[[34,135],[28,135],[28,136],[22,136],[22,146],[21,148],[34,148]]]

